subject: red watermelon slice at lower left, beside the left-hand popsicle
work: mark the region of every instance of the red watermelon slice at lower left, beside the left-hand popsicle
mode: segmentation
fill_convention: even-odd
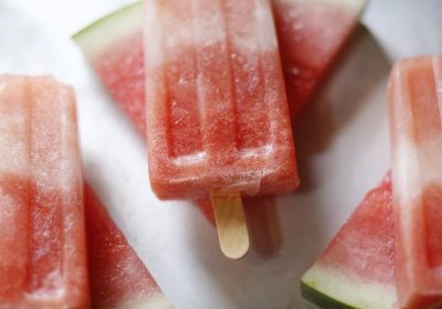
[[[172,308],[88,185],[84,194],[93,308]]]

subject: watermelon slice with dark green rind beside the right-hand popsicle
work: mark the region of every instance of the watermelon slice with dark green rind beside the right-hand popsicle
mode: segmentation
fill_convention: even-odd
[[[322,308],[392,309],[397,302],[391,180],[367,193],[301,279]]]

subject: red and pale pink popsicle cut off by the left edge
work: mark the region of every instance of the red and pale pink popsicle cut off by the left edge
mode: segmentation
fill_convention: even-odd
[[[0,307],[88,308],[75,98],[0,76]]]

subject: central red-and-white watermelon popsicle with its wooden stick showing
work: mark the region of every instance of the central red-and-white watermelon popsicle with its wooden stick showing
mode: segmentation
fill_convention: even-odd
[[[229,254],[222,231],[232,213],[230,222],[244,222],[241,194],[298,184],[271,4],[148,0],[145,7],[151,188],[160,199],[211,195],[221,248],[240,257],[249,244]],[[246,238],[246,226],[239,231],[233,238]]]

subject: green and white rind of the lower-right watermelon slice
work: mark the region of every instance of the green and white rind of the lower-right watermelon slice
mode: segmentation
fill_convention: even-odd
[[[392,309],[397,302],[394,286],[320,264],[303,275],[301,291],[305,299],[325,309]]]

